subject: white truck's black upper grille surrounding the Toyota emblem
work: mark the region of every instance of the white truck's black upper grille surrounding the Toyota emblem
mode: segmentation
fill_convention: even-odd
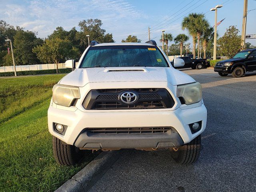
[[[125,92],[133,92],[138,100],[133,104],[122,102],[120,97]],[[87,110],[157,109],[172,108],[174,100],[164,88],[99,89],[88,93],[83,106]]]

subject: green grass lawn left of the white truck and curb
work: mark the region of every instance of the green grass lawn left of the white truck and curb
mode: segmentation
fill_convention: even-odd
[[[0,79],[0,191],[54,191],[79,166],[58,166],[47,110],[52,86],[64,75]]]

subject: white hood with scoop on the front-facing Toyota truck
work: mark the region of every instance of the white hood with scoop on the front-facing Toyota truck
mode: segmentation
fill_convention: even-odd
[[[195,80],[172,67],[78,68],[62,78],[59,84],[83,87],[94,82],[169,82],[187,84]]]

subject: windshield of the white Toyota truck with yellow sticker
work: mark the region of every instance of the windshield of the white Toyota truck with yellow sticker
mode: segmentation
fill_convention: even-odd
[[[81,68],[168,67],[156,46],[95,46],[86,53]]]

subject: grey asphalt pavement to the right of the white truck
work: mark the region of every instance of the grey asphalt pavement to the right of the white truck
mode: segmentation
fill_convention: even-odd
[[[202,84],[208,110],[198,162],[176,164],[167,149],[125,150],[90,192],[256,191],[256,73],[183,72]]]

